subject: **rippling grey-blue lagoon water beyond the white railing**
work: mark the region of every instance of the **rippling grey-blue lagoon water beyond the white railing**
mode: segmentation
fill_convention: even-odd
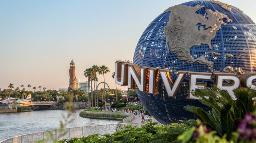
[[[90,119],[79,116],[83,109],[72,110],[67,127],[79,127],[102,124],[116,124],[116,120]],[[0,141],[22,134],[57,129],[62,115],[67,116],[68,110],[41,110],[0,114]]]

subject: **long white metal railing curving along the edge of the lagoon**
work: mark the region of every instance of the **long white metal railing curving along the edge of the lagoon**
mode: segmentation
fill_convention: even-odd
[[[37,132],[31,134],[25,134],[20,136],[15,136],[0,143],[34,143],[38,140],[44,140],[44,143],[52,143],[53,141],[70,139],[74,137],[84,137],[92,134],[111,134],[113,132],[125,129],[126,125],[132,125],[134,127],[139,127],[139,123],[123,123],[123,124],[107,124],[107,125],[95,125],[95,126],[83,126],[83,127],[73,127],[65,128],[63,130],[51,130],[44,132]],[[52,135],[52,140],[48,140],[49,135]]]

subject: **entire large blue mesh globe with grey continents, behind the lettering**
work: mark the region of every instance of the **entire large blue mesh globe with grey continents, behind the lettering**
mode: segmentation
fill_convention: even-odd
[[[135,49],[133,64],[178,71],[229,72],[241,76],[256,71],[256,26],[241,10],[219,1],[191,1],[168,8],[149,24]],[[213,81],[208,82],[212,86]],[[204,107],[187,99],[187,74],[174,98],[168,97],[161,76],[159,94],[136,90],[147,111],[168,124],[196,116],[186,105]]]

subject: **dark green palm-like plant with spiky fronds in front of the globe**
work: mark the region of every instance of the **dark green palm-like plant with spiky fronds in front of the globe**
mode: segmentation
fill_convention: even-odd
[[[225,90],[205,87],[193,91],[192,94],[212,110],[205,111],[201,107],[194,106],[186,106],[185,109],[195,113],[207,128],[217,131],[217,135],[222,137],[226,134],[227,139],[230,139],[232,132],[237,129],[238,121],[243,119],[247,112],[255,111],[252,100],[256,96],[254,90],[239,88],[234,93],[237,101],[233,100]]]

